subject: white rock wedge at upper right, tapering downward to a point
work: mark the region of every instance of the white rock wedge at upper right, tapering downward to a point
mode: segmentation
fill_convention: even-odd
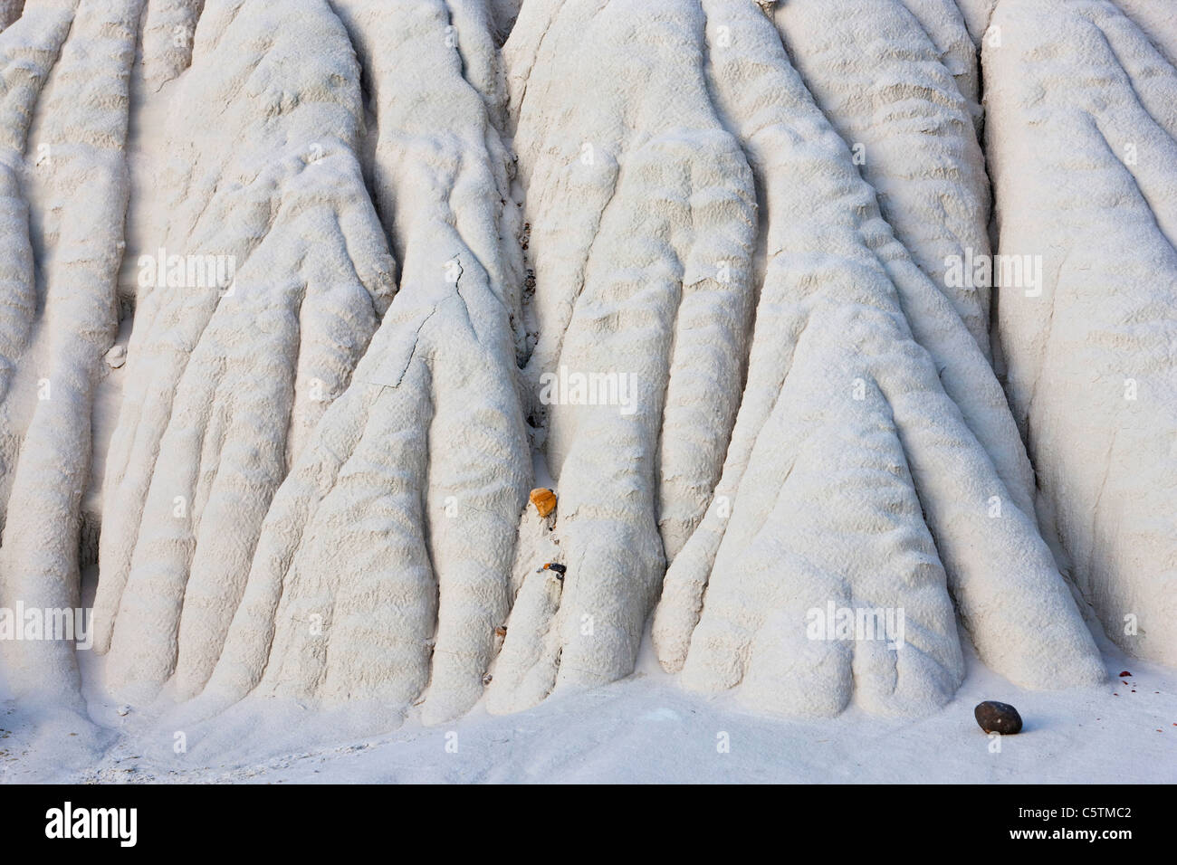
[[[989,355],[988,286],[945,285],[945,259],[988,255],[977,53],[952,0],[791,0],[774,21],[805,86],[852,148],[884,219]]]

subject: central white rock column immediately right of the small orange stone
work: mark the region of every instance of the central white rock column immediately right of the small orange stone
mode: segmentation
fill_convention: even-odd
[[[739,405],[756,192],[710,104],[703,11],[597,12],[525,4],[506,52],[537,286],[527,373],[540,398],[545,375],[616,374],[633,392],[629,406],[536,410],[550,410],[568,572],[524,580],[497,710],[633,668],[665,559],[706,507]],[[576,85],[601,62],[614,74]]]

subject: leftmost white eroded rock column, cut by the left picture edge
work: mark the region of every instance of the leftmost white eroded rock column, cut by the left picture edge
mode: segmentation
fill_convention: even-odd
[[[8,608],[79,606],[93,395],[117,327],[114,274],[128,192],[126,82],[139,6],[86,4],[77,13],[73,6],[27,4],[0,46],[12,124],[5,125],[2,241],[12,318],[4,350],[19,354],[20,373],[6,382],[0,457],[7,499],[0,604]],[[18,195],[24,201],[14,201]],[[71,643],[42,634],[0,645],[12,658],[6,668],[18,694],[77,699]]]

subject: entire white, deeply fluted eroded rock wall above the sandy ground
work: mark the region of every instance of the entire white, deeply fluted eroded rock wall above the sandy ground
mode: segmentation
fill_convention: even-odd
[[[385,726],[1177,664],[1164,7],[0,4],[0,608]]]

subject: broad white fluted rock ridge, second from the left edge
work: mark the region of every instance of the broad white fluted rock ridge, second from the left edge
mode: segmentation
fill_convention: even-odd
[[[307,13],[325,45],[312,62],[281,35],[290,8],[217,12],[161,94],[158,177],[174,198],[140,246],[95,604],[113,684],[178,672],[189,693],[220,653],[271,499],[347,386],[393,275],[354,155],[359,71],[338,19]],[[278,35],[251,49],[259,31]],[[201,257],[225,266],[192,280]]]

